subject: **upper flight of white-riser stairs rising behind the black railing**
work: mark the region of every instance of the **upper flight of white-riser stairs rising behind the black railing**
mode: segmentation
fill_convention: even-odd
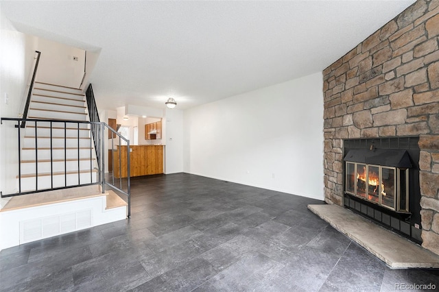
[[[87,117],[81,90],[35,82],[27,118],[47,121],[28,121],[25,125],[22,191],[97,182],[91,131],[89,125],[78,123],[87,121]]]

